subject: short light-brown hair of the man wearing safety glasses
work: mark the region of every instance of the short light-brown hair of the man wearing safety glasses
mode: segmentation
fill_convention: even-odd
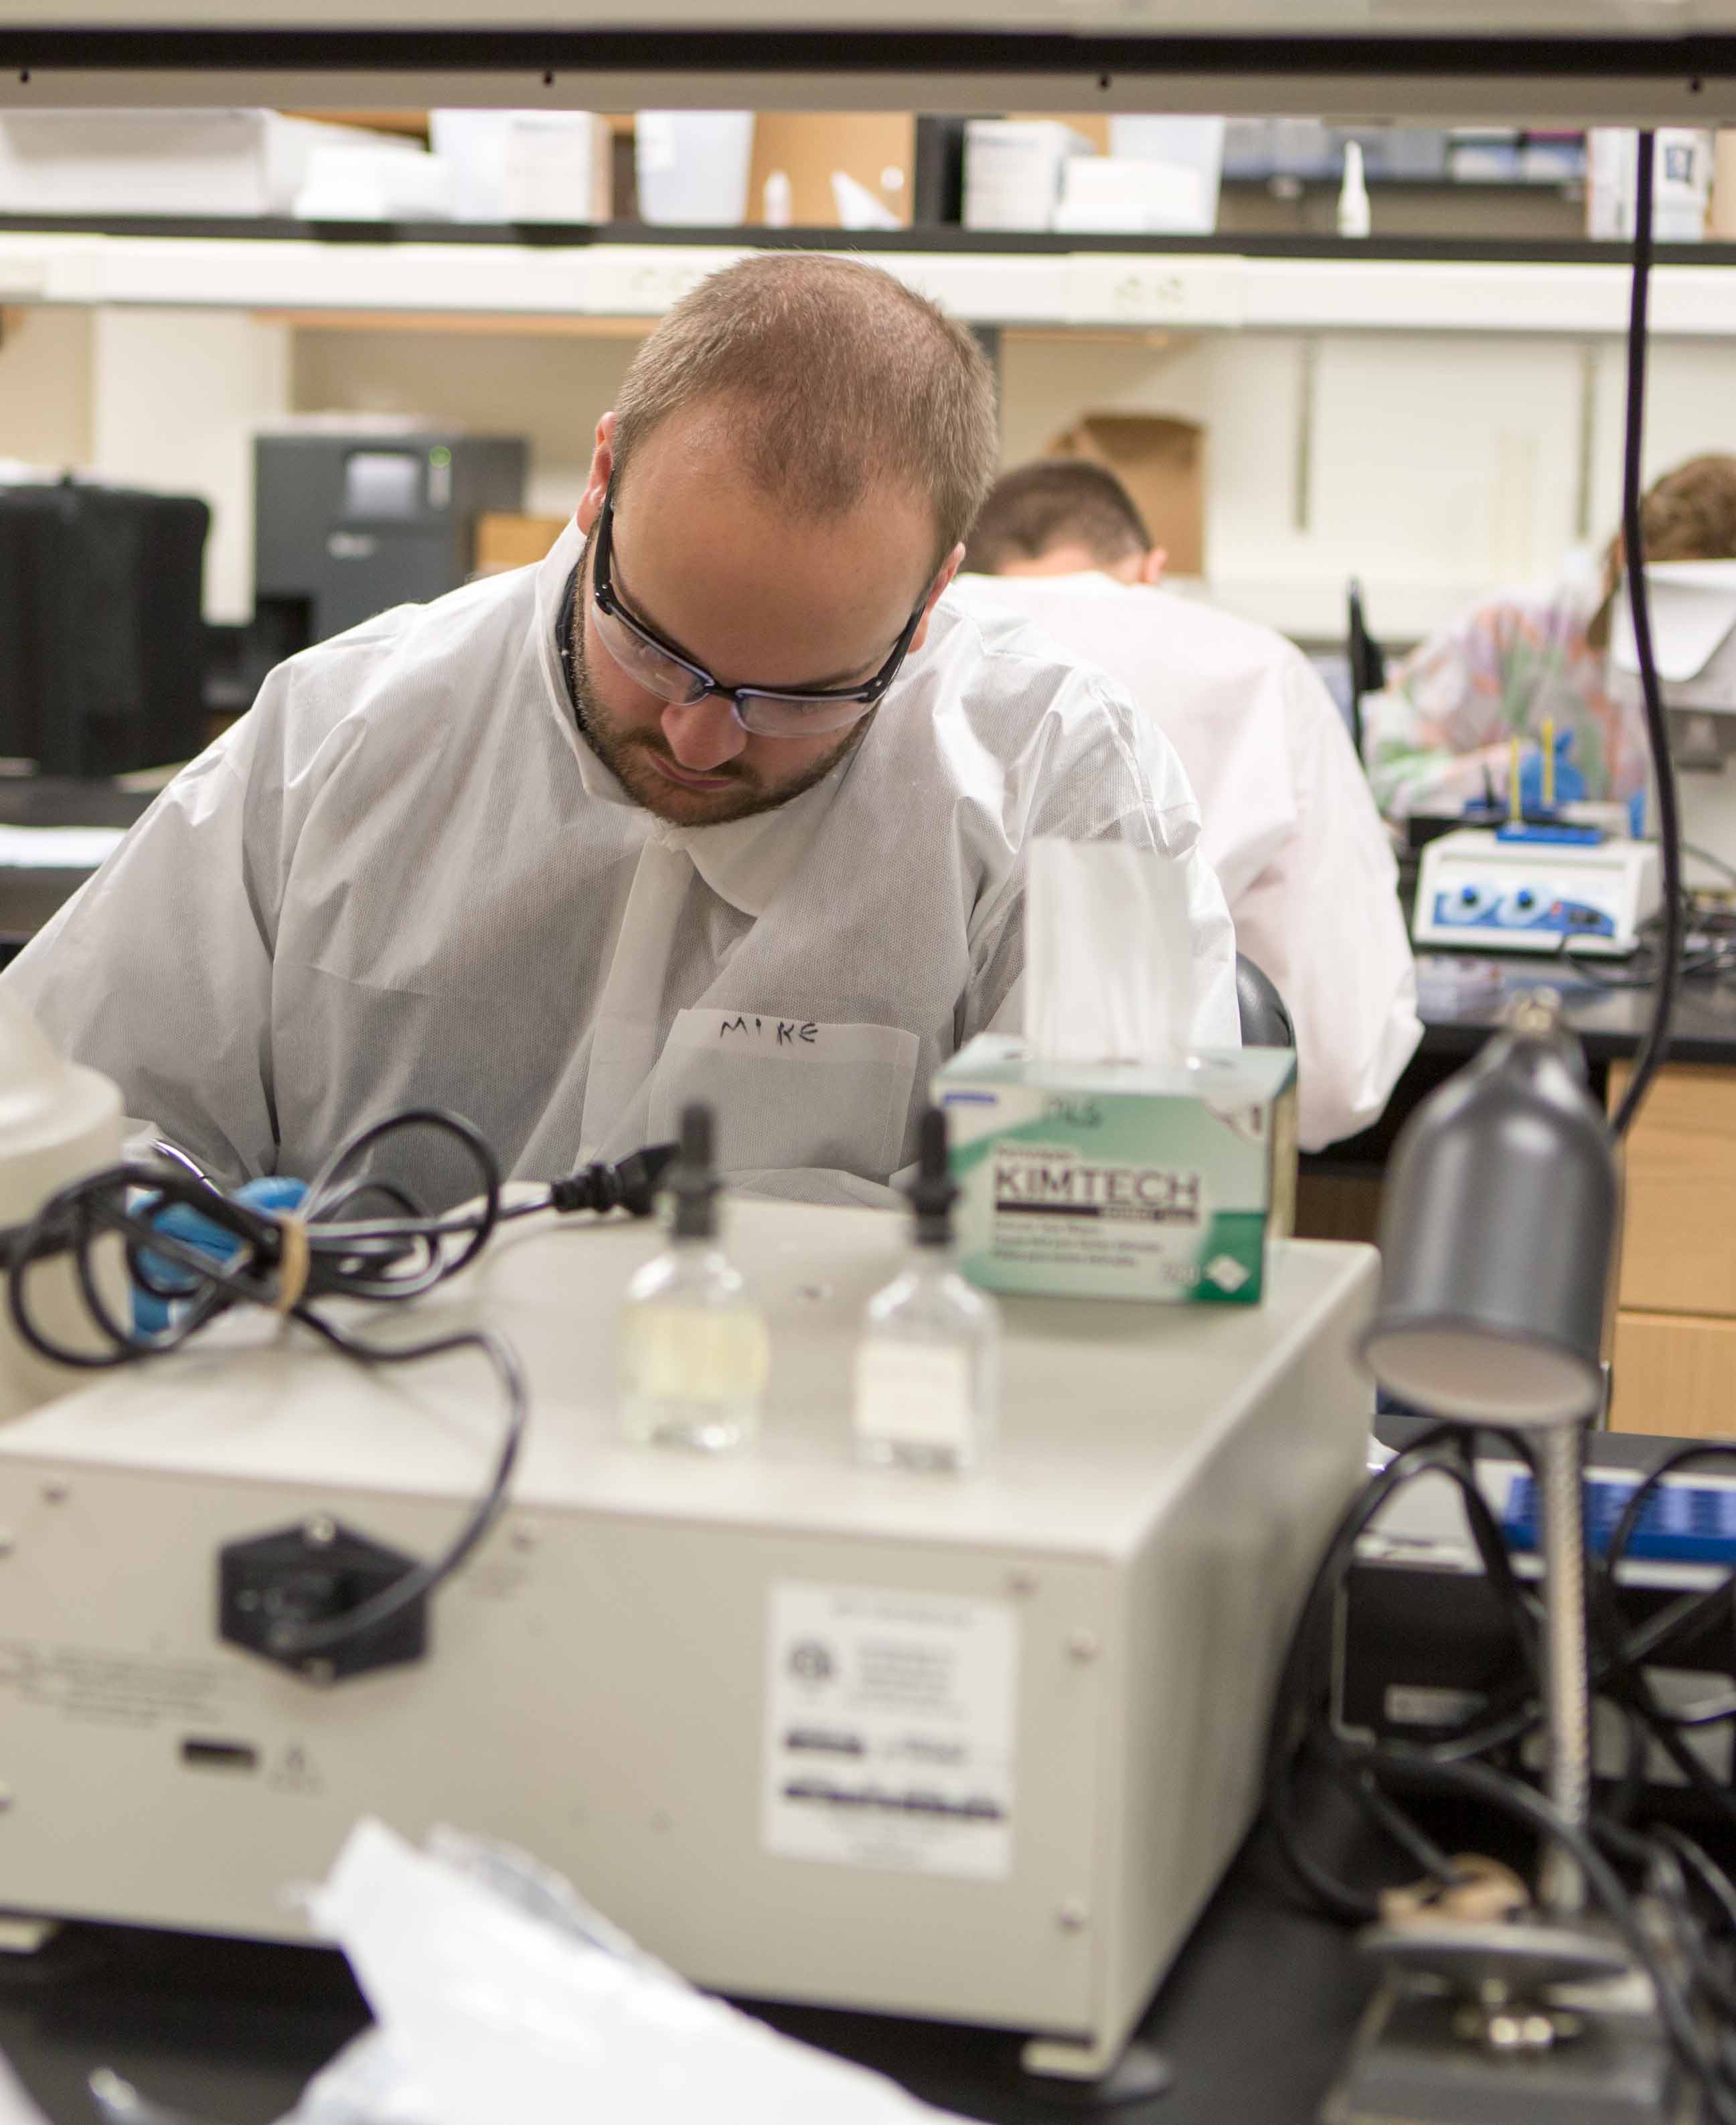
[[[763,253],[684,295],[616,395],[616,478],[654,429],[701,404],[722,414],[754,482],[803,516],[841,516],[882,480],[924,495],[935,567],[994,478],[994,372],[982,346],[852,259]]]

